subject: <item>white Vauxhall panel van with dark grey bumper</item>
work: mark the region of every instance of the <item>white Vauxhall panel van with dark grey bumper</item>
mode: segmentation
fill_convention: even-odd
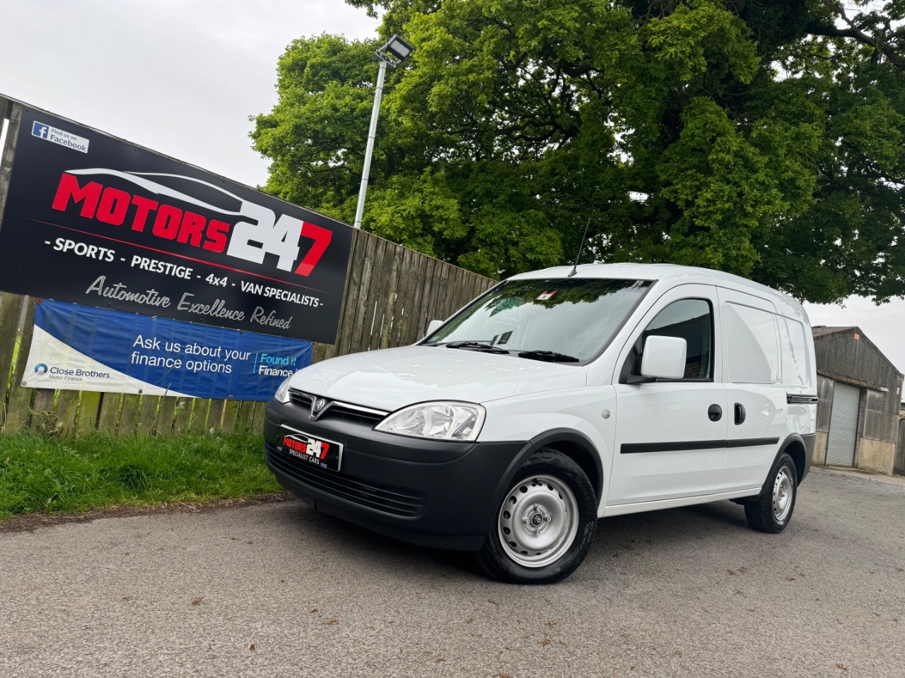
[[[418,344],[296,372],[264,435],[317,510],[550,583],[606,516],[730,499],[781,532],[816,402],[794,299],[703,268],[590,264],[504,280]]]

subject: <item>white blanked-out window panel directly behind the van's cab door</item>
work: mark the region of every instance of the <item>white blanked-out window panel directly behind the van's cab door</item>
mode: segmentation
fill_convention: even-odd
[[[722,307],[722,316],[729,352],[729,381],[779,381],[776,315],[759,308],[728,303]]]

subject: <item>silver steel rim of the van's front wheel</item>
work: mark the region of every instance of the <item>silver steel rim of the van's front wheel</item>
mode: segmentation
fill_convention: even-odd
[[[578,533],[578,502],[554,476],[531,476],[510,488],[500,506],[497,531],[511,560],[542,568],[559,560]]]

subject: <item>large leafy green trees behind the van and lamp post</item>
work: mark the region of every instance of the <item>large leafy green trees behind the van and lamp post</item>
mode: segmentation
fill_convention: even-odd
[[[348,0],[379,39],[292,42],[266,189],[500,277],[571,260],[720,268],[829,302],[905,295],[905,0]]]

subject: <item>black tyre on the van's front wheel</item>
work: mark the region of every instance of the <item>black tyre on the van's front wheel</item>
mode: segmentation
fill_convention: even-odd
[[[524,484],[522,481],[525,481]],[[560,488],[565,485],[567,492],[561,492],[556,485]],[[520,523],[525,523],[526,527],[522,527],[517,517],[506,511],[512,506],[515,506],[513,513],[519,512]],[[553,513],[548,512],[548,508]],[[504,518],[504,515],[509,518]],[[551,532],[540,533],[547,529],[548,524]],[[512,525],[511,530],[506,525]],[[585,560],[596,527],[597,498],[594,486],[581,466],[555,449],[541,447],[519,468],[509,491],[500,497],[487,539],[478,552],[478,561],[484,571],[500,581],[552,584],[566,579]],[[500,541],[500,535],[506,536],[504,530],[510,530],[505,544]],[[522,533],[526,540],[530,540],[535,537],[529,533],[533,530],[538,531],[538,540],[553,538],[557,534],[560,536],[554,545],[537,554],[519,551],[521,545],[516,547],[515,541],[509,541],[519,538],[512,531]],[[532,558],[538,560],[529,565],[517,560]],[[550,558],[555,560],[544,562]]]

